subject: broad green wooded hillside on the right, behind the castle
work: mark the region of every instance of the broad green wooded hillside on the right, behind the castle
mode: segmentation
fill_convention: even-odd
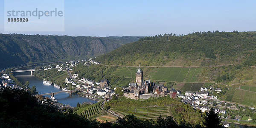
[[[102,64],[209,66],[256,64],[256,32],[195,32],[141,38],[96,58]]]

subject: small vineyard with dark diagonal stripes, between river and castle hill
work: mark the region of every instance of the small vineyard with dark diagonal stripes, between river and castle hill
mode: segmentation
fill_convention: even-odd
[[[85,108],[81,108],[77,111],[75,111],[76,113],[79,114],[79,116],[84,117],[84,118],[89,118],[95,114],[100,114],[100,111],[102,111],[102,106],[101,106],[102,102],[98,102],[95,103],[93,105],[90,105],[88,107]]]

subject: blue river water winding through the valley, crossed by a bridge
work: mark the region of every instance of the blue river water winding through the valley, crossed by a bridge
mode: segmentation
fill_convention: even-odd
[[[25,81],[29,81],[29,87],[35,85],[36,91],[38,94],[44,94],[49,92],[59,92],[61,89],[55,88],[53,85],[45,85],[43,84],[43,80],[36,78],[34,75],[31,75],[30,72],[15,72],[13,75],[22,83]],[[44,95],[47,97],[51,97],[51,95]],[[91,102],[97,103],[96,100],[87,99],[85,97],[81,97],[78,94],[69,95],[67,92],[61,92],[54,95],[55,100],[58,100],[59,103],[64,103],[70,106],[75,107],[77,102]]]

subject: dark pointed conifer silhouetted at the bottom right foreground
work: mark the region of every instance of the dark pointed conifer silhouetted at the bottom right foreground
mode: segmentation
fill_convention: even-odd
[[[204,125],[206,128],[222,128],[221,119],[214,109],[209,110],[209,113],[204,118]]]

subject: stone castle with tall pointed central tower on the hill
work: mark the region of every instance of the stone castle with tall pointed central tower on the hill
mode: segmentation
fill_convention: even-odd
[[[129,83],[129,91],[125,93],[125,97],[131,99],[147,99],[149,97],[159,97],[170,95],[170,97],[176,96],[176,90],[171,88],[167,89],[163,84],[157,84],[150,81],[148,78],[147,81],[143,81],[143,70],[139,69],[135,72],[136,82]]]

